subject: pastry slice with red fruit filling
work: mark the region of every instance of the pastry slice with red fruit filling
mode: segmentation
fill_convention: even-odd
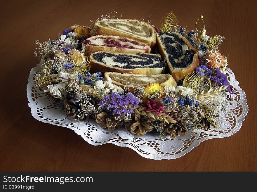
[[[150,46],[144,42],[113,35],[96,35],[89,37],[82,44],[84,54],[91,55],[97,51],[115,53],[150,53]]]

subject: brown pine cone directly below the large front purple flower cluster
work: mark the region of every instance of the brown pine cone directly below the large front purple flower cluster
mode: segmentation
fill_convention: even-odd
[[[97,122],[100,127],[108,130],[114,130],[115,128],[120,128],[123,125],[123,116],[115,115],[111,112],[101,112],[95,115],[95,122]]]

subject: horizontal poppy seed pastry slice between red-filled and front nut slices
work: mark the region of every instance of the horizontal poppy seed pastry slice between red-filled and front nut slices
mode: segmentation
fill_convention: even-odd
[[[91,55],[92,68],[101,72],[157,75],[164,71],[160,55],[150,53],[107,53],[99,51]]]

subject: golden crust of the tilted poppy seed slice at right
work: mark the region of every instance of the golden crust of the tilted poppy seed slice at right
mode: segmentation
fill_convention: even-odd
[[[185,44],[188,46],[188,48],[190,50],[192,50],[194,53],[192,63],[187,68],[182,68],[182,69],[173,68],[171,63],[169,62],[168,54],[166,54],[166,51],[164,51],[164,47],[162,46],[162,41],[161,41],[159,35],[157,34],[157,47],[159,49],[159,52],[162,55],[162,57],[166,58],[169,71],[170,71],[171,75],[173,76],[173,78],[175,79],[175,81],[178,82],[180,79],[184,79],[190,72],[192,72],[195,68],[197,68],[197,66],[199,66],[199,60],[198,60],[198,52],[187,41],[187,39],[185,39],[185,37],[183,37],[182,35],[180,35],[176,32],[172,32],[172,33],[176,34],[180,39],[183,39],[185,41]]]

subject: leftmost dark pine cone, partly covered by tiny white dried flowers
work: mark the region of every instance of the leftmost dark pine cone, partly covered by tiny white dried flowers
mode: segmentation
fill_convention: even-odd
[[[74,120],[88,120],[89,115],[84,115],[84,113],[81,113],[81,111],[83,111],[83,106],[79,105],[73,99],[65,99],[63,104],[64,111],[68,117],[72,117]]]

